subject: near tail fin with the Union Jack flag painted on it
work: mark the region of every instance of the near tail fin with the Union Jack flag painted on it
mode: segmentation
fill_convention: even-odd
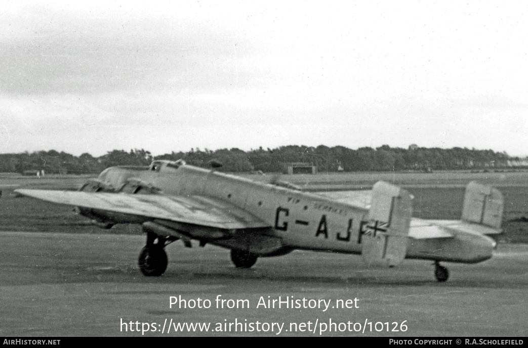
[[[406,256],[411,221],[411,196],[384,182],[372,189],[368,223],[362,237],[362,256],[369,266],[397,266]]]

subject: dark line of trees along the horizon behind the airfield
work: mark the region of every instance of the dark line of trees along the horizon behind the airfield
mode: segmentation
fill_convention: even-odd
[[[521,158],[510,157],[506,152],[475,150],[453,147],[426,148],[411,145],[409,148],[383,145],[376,148],[361,147],[352,150],[344,146],[288,145],[277,148],[259,147],[242,151],[238,148],[208,150],[192,148],[188,152],[171,152],[153,156],[143,149],[130,151],[112,150],[106,155],[93,157],[89,153],[73,156],[65,152],[37,151],[33,153],[0,154],[0,172],[32,174],[44,170],[46,173],[91,174],[107,167],[147,166],[156,160],[183,159],[188,164],[210,167],[211,161],[222,163],[219,169],[225,172],[283,172],[287,163],[306,163],[317,166],[319,172],[360,171],[433,171],[463,170],[474,168],[507,167],[510,161]]]

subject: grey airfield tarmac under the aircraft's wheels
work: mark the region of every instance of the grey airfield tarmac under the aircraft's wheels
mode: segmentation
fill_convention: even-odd
[[[142,323],[149,323],[149,330],[159,331],[144,336],[275,336],[278,326],[273,332],[271,326],[262,331],[267,327],[263,323],[274,322],[284,323],[279,336],[528,334],[526,244],[499,244],[491,260],[475,265],[444,263],[450,279],[438,283],[429,261],[406,260],[396,269],[367,270],[361,256],[295,251],[260,258],[252,269],[237,270],[228,250],[210,245],[185,248],[178,242],[167,247],[166,273],[145,277],[136,262],[144,243],[142,235],[0,233],[0,335],[142,336],[142,327],[147,329]],[[211,307],[180,309],[176,304],[171,309],[169,297],[180,295],[187,301],[210,300]],[[225,300],[248,300],[249,307],[228,309],[225,302],[224,309],[217,309],[218,295]],[[265,300],[293,296],[306,299],[307,304],[325,300],[329,307],[326,311],[324,304],[323,309],[257,308],[261,296]],[[359,308],[333,308],[337,300],[349,299],[358,299]],[[162,326],[169,326],[171,319],[211,326],[208,332],[171,329],[167,333],[165,327],[162,333]],[[224,323],[229,327],[235,320],[253,323],[253,332],[240,332],[243,325],[237,332],[234,325],[228,332],[212,331],[219,327],[217,323],[223,330]],[[341,325],[336,326],[337,332],[320,333],[320,324],[330,320],[351,322],[352,331],[347,327],[340,332]],[[121,325],[130,321],[134,332],[129,331],[130,325]],[[382,331],[376,332],[376,322],[383,323],[377,326]],[[402,322],[407,331],[393,332],[402,328]],[[297,324],[296,332],[290,331],[291,323]],[[354,331],[359,327],[354,323],[366,330]]]

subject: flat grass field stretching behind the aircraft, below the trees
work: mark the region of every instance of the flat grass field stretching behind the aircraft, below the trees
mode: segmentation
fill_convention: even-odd
[[[244,175],[257,181],[270,181],[273,175]],[[140,234],[137,225],[116,225],[111,230],[92,226],[72,207],[16,197],[16,188],[75,190],[90,176],[46,176],[44,178],[0,173],[0,231],[126,233]],[[414,195],[413,216],[457,219],[470,181],[491,184],[504,195],[504,233],[499,242],[528,243],[528,172],[504,173],[336,173],[284,175],[306,191],[365,190],[379,181],[407,188]]]

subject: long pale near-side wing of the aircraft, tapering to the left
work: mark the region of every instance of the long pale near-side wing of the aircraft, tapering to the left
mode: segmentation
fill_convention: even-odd
[[[44,201],[223,230],[271,227],[233,204],[208,196],[15,190]]]

